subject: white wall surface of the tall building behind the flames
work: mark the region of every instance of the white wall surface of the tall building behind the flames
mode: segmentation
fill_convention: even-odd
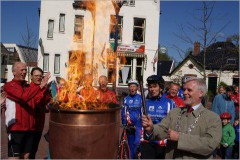
[[[40,15],[40,29],[39,38],[42,39],[44,52],[49,54],[49,71],[54,76],[67,76],[68,64],[68,52],[70,50],[85,48],[85,51],[91,54],[91,46],[86,45],[92,41],[92,29],[88,27],[91,25],[91,14],[89,11],[75,10],[73,9],[73,0],[67,1],[41,1],[41,15]],[[106,2],[106,1],[105,1]],[[109,1],[111,4],[111,2]],[[109,7],[109,6],[107,6]],[[112,6],[111,6],[112,7]],[[101,13],[102,11],[105,13]],[[112,9],[102,8],[97,11],[98,16],[96,25],[100,26],[95,30],[95,54],[99,53],[106,42],[106,47],[109,47],[109,23],[110,15],[115,15]],[[59,33],[59,15],[65,14],[65,33]],[[99,16],[105,16],[105,19],[101,19]],[[84,35],[82,43],[75,43],[72,41],[74,35],[74,19],[75,15],[84,15]],[[146,32],[145,32],[145,54],[147,55],[147,68],[144,70],[144,80],[151,75],[157,74],[157,70],[153,71],[152,60],[155,55],[155,51],[158,47],[158,33],[159,33],[159,3],[155,3],[154,0],[135,1],[135,7],[123,6],[120,11],[120,16],[123,16],[123,35],[122,44],[132,44],[133,39],[133,18],[146,18]],[[53,39],[47,38],[48,20],[54,20],[54,33]],[[104,23],[103,23],[104,22]],[[107,34],[106,34],[107,33]],[[99,40],[100,39],[100,40]],[[88,46],[88,47],[86,47]],[[39,47],[39,67],[43,67],[43,59],[41,49]],[[54,75],[54,54],[61,54],[60,75]],[[88,55],[90,55],[88,54]],[[106,55],[106,52],[104,53]],[[99,63],[96,56],[94,63]],[[98,65],[99,74],[106,74],[101,65]],[[157,63],[155,64],[157,68]]]

